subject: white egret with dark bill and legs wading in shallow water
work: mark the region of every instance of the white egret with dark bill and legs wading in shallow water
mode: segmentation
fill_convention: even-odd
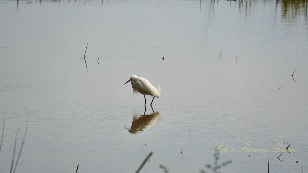
[[[128,82],[131,82],[134,94],[140,93],[144,96],[144,108],[145,109],[146,109],[145,103],[147,102],[147,99],[145,99],[145,95],[152,95],[153,96],[153,99],[152,99],[152,102],[151,102],[151,107],[152,107],[152,103],[153,103],[154,98],[160,97],[160,91],[161,91],[160,85],[158,85],[158,88],[156,88],[147,79],[142,78],[142,77],[138,77],[135,74],[133,74],[129,78],[129,80],[124,83],[124,85]]]

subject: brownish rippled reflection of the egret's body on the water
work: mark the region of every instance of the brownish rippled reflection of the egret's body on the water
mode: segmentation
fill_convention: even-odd
[[[152,124],[156,122],[156,120],[160,121],[160,113],[154,112],[150,115],[138,115],[134,113],[132,125],[130,128],[126,128],[130,133],[142,133],[145,130],[149,129]]]

